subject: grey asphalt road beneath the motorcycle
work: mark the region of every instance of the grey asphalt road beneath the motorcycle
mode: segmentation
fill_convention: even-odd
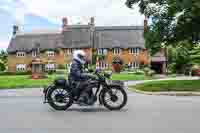
[[[0,97],[0,133],[199,133],[200,97],[129,93],[121,111],[73,106],[54,111],[41,97]]]

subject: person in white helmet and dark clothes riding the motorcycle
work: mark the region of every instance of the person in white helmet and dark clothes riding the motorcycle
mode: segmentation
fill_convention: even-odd
[[[73,60],[70,67],[70,74],[69,74],[69,80],[72,84],[75,84],[74,92],[75,95],[78,97],[80,95],[81,90],[80,89],[86,89],[88,86],[87,80],[89,78],[95,78],[94,75],[91,75],[89,73],[84,72],[83,65],[86,63],[86,53],[83,50],[76,50],[73,53]],[[89,100],[89,93],[85,92],[81,93],[78,102],[79,103],[85,103],[86,100],[88,100],[88,103],[92,102]]]

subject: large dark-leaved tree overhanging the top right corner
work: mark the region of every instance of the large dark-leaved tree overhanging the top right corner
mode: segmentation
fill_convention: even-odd
[[[152,20],[145,33],[147,47],[155,50],[161,44],[173,45],[183,40],[193,45],[200,40],[199,0],[126,1],[129,8],[133,4],[138,4],[140,12]]]

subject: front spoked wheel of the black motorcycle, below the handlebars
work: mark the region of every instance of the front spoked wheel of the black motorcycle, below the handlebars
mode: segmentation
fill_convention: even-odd
[[[126,91],[121,86],[111,86],[103,91],[102,103],[109,110],[120,110],[127,103]]]

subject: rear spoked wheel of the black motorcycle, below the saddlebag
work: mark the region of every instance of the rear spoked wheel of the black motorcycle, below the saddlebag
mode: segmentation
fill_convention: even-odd
[[[49,105],[55,110],[66,110],[73,103],[73,97],[69,90],[62,87],[55,87],[47,94]]]

